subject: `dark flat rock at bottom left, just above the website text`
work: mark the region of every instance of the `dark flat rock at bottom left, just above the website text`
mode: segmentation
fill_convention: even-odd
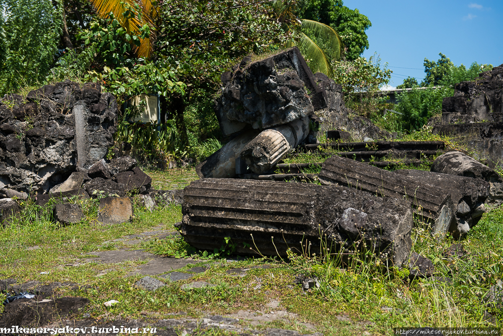
[[[46,325],[55,319],[78,313],[88,303],[88,299],[81,297],[43,299],[36,296],[33,299],[19,299],[5,306],[4,313],[0,316],[0,325],[18,325],[20,328]]]

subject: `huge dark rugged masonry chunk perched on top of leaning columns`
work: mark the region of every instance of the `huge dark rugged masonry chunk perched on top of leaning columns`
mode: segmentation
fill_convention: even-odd
[[[297,47],[255,62],[247,56],[224,79],[215,107],[224,135],[246,125],[263,129],[286,124],[326,107],[326,93]]]

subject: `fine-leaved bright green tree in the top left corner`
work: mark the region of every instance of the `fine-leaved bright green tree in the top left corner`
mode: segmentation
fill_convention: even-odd
[[[0,0],[0,95],[42,82],[61,35],[62,6],[50,0]]]

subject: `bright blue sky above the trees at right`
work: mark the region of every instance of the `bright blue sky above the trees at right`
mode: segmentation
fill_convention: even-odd
[[[407,76],[425,77],[425,57],[443,53],[455,65],[503,63],[503,0],[344,0],[344,6],[366,15],[369,49],[393,70],[390,85]]]

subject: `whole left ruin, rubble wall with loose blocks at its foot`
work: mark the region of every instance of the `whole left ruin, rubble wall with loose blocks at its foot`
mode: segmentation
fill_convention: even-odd
[[[81,210],[70,197],[118,196],[100,201],[100,221],[116,223],[132,215],[130,195],[150,206],[153,199],[173,199],[173,192],[150,189],[151,179],[129,156],[106,160],[114,144],[118,106],[99,83],[65,80],[31,91],[26,99],[0,100],[0,213],[5,219],[21,211],[12,200],[32,198],[45,206],[57,199],[53,217],[62,224],[79,222]],[[152,196],[150,196],[150,193]]]

